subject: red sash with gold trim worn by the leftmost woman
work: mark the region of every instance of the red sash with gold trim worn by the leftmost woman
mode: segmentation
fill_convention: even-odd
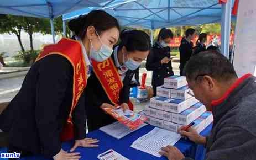
[[[61,141],[68,141],[74,138],[73,124],[72,124],[72,111],[75,109],[77,102],[85,89],[87,83],[86,64],[83,59],[83,53],[79,41],[62,38],[58,44],[51,44],[45,46],[41,53],[36,58],[36,61],[41,60],[48,55],[61,55],[71,63],[73,67],[73,97],[72,105],[70,108],[69,118],[61,132]]]

